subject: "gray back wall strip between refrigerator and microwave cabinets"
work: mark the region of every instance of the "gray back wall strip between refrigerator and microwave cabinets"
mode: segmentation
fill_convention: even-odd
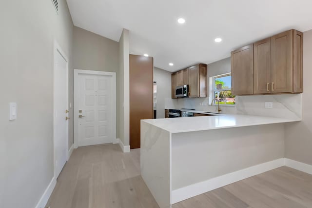
[[[154,67],[153,79],[157,83],[156,118],[165,118],[165,101],[171,99],[171,72]]]

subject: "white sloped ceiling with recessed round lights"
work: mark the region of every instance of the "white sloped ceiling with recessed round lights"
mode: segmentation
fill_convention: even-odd
[[[287,29],[312,29],[312,0],[67,0],[74,24],[119,41],[130,30],[130,53],[177,71],[211,63],[232,50]],[[185,24],[177,19],[183,17]],[[216,43],[216,37],[223,39]],[[173,62],[174,66],[168,63]]]

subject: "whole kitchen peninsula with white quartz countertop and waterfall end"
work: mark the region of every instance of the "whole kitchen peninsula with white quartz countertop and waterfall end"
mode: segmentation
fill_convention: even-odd
[[[141,120],[141,175],[160,208],[284,166],[284,125],[220,115]]]

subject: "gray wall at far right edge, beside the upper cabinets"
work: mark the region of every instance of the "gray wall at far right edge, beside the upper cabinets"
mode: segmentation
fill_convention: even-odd
[[[302,121],[285,126],[285,157],[312,165],[312,30],[303,34]]]

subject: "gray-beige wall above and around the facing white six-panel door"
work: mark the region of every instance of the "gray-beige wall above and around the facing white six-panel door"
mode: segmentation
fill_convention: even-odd
[[[111,39],[99,36],[90,31],[74,26],[73,36],[73,64],[74,69],[109,71],[116,72],[116,104],[119,103],[119,86],[123,83],[119,81],[119,43]],[[119,131],[119,110],[116,106],[116,136]],[[73,121],[72,121],[73,122]],[[115,138],[114,138],[115,139]],[[74,142],[74,138],[69,140],[69,146]]]

